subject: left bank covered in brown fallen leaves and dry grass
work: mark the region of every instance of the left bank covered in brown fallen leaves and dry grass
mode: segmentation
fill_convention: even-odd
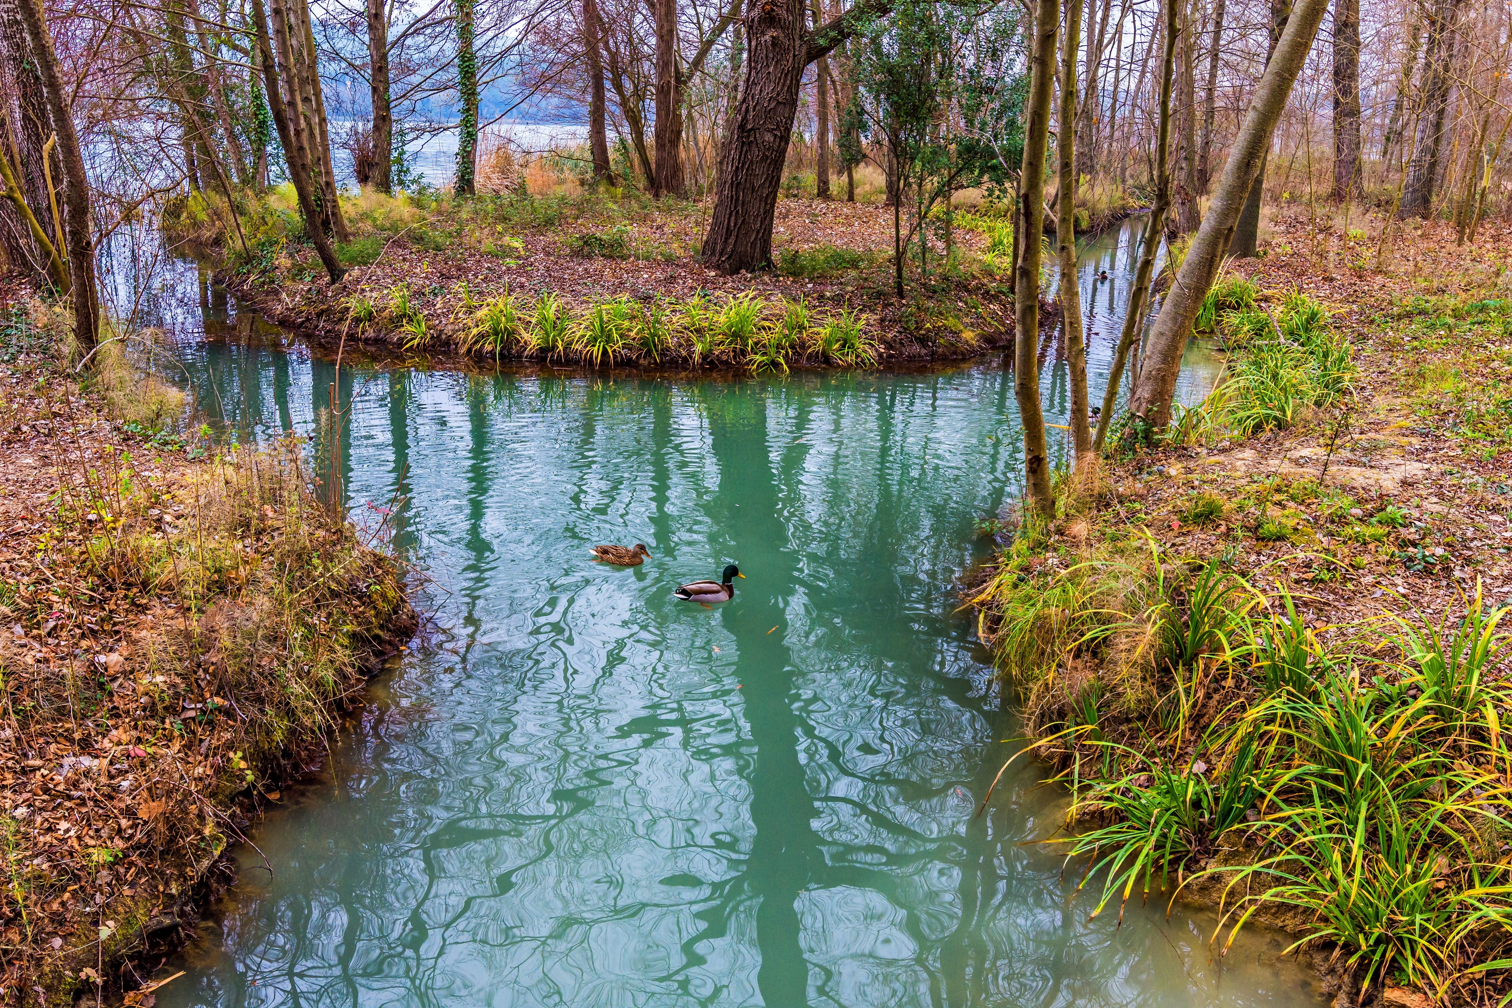
[[[122,422],[175,393],[124,360],[76,381],[53,313],[5,293],[0,1003],[145,1005],[227,845],[416,617],[298,444]]]

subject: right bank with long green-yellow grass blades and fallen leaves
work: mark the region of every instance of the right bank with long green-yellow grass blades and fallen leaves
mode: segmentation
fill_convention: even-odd
[[[1362,1003],[1491,1003],[1512,937],[1507,233],[1394,224],[1377,272],[1380,227],[1278,221],[1232,272],[1273,322],[1216,320],[1235,379],[1067,493],[974,601],[1074,789],[1066,849],[1107,869],[1089,910],[1196,898],[1337,949]]]

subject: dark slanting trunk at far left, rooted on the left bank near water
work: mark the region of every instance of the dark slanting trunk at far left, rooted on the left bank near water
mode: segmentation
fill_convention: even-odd
[[[64,169],[64,215],[65,245],[68,246],[70,296],[74,302],[74,342],[85,354],[100,342],[100,305],[95,292],[94,242],[89,239],[89,178],[85,174],[83,151],[79,150],[79,135],[74,131],[73,112],[68,107],[68,92],[57,71],[57,56],[53,53],[53,36],[47,30],[41,0],[20,0],[21,24],[36,76],[42,83],[42,97],[53,119],[57,136],[57,160]]]

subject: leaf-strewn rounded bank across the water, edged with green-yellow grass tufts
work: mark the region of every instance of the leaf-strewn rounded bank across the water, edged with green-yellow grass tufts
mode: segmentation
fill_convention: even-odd
[[[756,370],[965,360],[1012,342],[1009,231],[971,212],[957,216],[948,260],[933,222],[927,274],[915,242],[898,298],[892,210],[880,204],[780,199],[776,269],[724,277],[696,257],[708,203],[364,193],[343,199],[352,240],[337,251],[351,272],[331,286],[314,251],[289,237],[281,199],[243,213],[237,237],[219,204],[197,196],[169,233],[219,246],[224,280],[274,322],[325,335],[426,354]],[[500,298],[516,322],[499,317]],[[561,302],[559,334],[540,322],[544,298]],[[1049,328],[1055,310],[1043,308]]]

